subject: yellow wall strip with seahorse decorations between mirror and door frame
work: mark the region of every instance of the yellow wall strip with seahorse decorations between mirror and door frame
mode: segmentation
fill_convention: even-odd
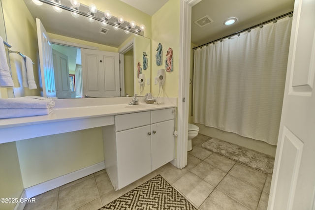
[[[173,49],[174,71],[166,72],[163,90],[168,97],[178,97],[179,77],[179,36],[180,36],[180,0],[169,0],[152,16],[152,92],[158,95],[158,85],[154,84],[158,69],[165,69],[167,49]],[[163,63],[158,66],[156,54],[158,43],[163,46]],[[161,95],[163,97],[163,95]],[[164,97],[167,97],[164,95]]]

